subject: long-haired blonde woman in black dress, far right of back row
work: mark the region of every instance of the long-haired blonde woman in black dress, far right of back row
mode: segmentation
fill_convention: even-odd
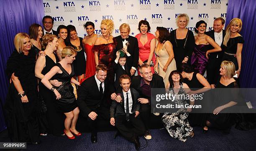
[[[235,64],[236,73],[238,76],[241,72],[242,63],[242,49],[243,49],[243,37],[239,34],[242,29],[242,20],[239,18],[233,18],[230,20],[224,37],[223,45],[227,48],[224,50],[223,60],[232,61]]]

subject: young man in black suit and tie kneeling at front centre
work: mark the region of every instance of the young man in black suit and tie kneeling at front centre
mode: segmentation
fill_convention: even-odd
[[[123,91],[121,97],[124,101],[118,103],[113,100],[110,106],[110,124],[116,126],[121,135],[128,141],[135,144],[136,149],[140,148],[138,136],[145,133],[146,129],[139,115],[140,104],[138,103],[139,93],[134,88],[130,88],[131,78],[122,75],[119,78]],[[133,128],[128,126],[131,123]]]

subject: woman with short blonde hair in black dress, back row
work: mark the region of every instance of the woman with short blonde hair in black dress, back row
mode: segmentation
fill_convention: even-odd
[[[188,22],[189,17],[187,14],[179,14],[176,18],[178,28],[170,32],[177,69],[181,63],[190,64],[190,58],[195,46],[194,34],[186,28]]]

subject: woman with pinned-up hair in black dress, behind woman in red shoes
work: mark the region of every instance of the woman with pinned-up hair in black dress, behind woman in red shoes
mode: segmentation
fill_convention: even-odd
[[[46,34],[43,37],[42,46],[44,49],[44,55],[39,55],[36,60],[35,74],[40,80],[44,78],[44,75],[48,73],[52,67],[59,61],[57,55],[54,53],[58,45],[58,38],[56,35]],[[54,86],[60,86],[62,83],[50,79],[50,83]],[[64,129],[64,115],[61,112],[56,111],[54,102],[56,98],[54,94],[39,81],[38,83],[39,93],[46,103],[46,117],[49,127],[49,132],[56,136],[63,135]]]

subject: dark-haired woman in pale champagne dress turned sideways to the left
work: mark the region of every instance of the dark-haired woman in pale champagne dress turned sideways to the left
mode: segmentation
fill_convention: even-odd
[[[166,86],[168,77],[173,70],[176,70],[176,63],[174,60],[174,53],[172,43],[168,40],[169,31],[164,27],[156,28],[156,40],[159,41],[156,45],[156,66],[155,71],[159,76],[164,78],[164,85]]]

